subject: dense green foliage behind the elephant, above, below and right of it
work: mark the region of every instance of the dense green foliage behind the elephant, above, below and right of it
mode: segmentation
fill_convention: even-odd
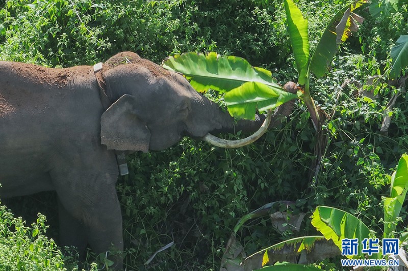
[[[309,21],[311,51],[346,3],[296,3]],[[339,207],[382,231],[381,196],[389,194],[390,182],[384,175],[408,151],[408,96],[397,98],[383,135],[379,127],[395,89],[386,78],[368,86],[367,78],[390,67],[391,47],[408,34],[408,12],[401,4],[379,21],[367,8],[360,15],[366,21],[342,45],[327,77],[311,78],[312,96],[327,113],[328,142],[319,167],[311,167],[317,139],[302,103],[251,146],[226,150],[185,138],[164,152],[129,157],[131,173],[118,182],[128,269],[218,269],[239,218],[277,200],[295,201],[297,211],[308,215],[317,205]],[[266,0],[0,1],[0,59],[68,67],[93,65],[125,50],[156,63],[174,53],[211,50],[245,57],[285,83],[297,78],[285,18],[282,1]],[[364,97],[363,86],[377,96]],[[406,204],[402,220],[405,210]],[[300,233],[280,234],[258,219],[237,238],[249,254],[314,235],[309,222]],[[173,247],[143,265],[171,241]]]

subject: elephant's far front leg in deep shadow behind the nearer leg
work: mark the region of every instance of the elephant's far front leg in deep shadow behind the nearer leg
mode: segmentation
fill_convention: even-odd
[[[74,218],[58,199],[58,216],[60,221],[60,245],[75,247],[80,255],[80,261],[85,261],[85,249],[88,244],[84,225]]]

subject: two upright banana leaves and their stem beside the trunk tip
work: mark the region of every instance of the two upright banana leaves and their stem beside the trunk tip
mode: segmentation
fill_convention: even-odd
[[[314,128],[318,132],[321,129],[319,113],[310,95],[311,72],[315,77],[322,77],[339,50],[340,44],[344,42],[352,31],[358,29],[358,23],[363,18],[353,11],[367,3],[367,0],[356,0],[342,8],[329,22],[322,37],[312,55],[309,52],[308,20],[305,19],[299,8],[292,0],[285,0],[285,11],[287,17],[290,43],[295,57],[296,69],[299,74],[298,84],[303,91],[303,102],[311,114]]]

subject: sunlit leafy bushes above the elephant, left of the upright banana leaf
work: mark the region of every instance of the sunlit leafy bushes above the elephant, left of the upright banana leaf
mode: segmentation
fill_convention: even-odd
[[[172,53],[220,48],[255,62],[263,62],[265,55],[270,55],[266,63],[283,62],[282,14],[272,16],[280,5],[268,5],[269,11],[259,5],[232,0],[9,0],[0,14],[2,58],[71,66],[131,50],[160,62]]]

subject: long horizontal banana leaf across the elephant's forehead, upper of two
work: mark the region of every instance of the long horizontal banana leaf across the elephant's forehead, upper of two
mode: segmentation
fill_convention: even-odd
[[[198,92],[227,92],[245,82],[260,82],[281,88],[268,70],[252,67],[244,58],[188,52],[168,57],[163,68],[182,73]]]

